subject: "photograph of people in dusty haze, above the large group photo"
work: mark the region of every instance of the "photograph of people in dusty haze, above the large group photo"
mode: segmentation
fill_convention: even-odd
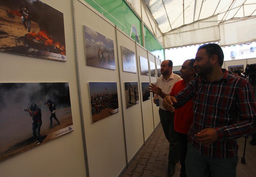
[[[116,69],[114,41],[84,25],[86,65]]]

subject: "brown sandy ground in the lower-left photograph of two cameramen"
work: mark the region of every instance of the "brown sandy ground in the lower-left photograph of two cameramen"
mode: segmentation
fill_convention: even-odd
[[[61,114],[60,114],[60,112],[61,112]],[[53,132],[63,129],[65,127],[68,127],[70,125],[73,125],[71,108],[64,108],[62,110],[57,110],[56,115],[60,121],[60,125],[58,125],[57,122],[53,119],[53,128],[52,129],[42,129],[42,127],[41,127],[40,134],[41,134],[41,138],[43,139],[43,142],[40,145],[55,138]],[[49,122],[50,122],[50,120],[49,120]],[[43,124],[48,125],[49,122],[43,122]],[[31,129],[32,129],[32,127],[31,127]],[[31,135],[32,135],[32,131],[31,131]],[[48,135],[52,135],[52,136],[48,136]],[[8,148],[4,153],[0,154],[0,161],[5,160],[14,155],[20,154],[22,152],[26,152],[27,150],[36,147],[37,146],[36,142],[37,142],[37,139],[35,137],[31,136],[30,138],[27,138],[24,141],[15,143],[10,148]]]

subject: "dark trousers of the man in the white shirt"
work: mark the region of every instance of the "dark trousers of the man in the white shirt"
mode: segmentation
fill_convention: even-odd
[[[175,167],[179,154],[178,132],[174,131],[174,113],[159,109],[159,116],[166,139],[169,141],[168,165]]]

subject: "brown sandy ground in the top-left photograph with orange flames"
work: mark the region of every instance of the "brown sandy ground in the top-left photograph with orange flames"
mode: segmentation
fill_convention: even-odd
[[[17,38],[25,36],[28,33],[28,30],[25,29],[24,25],[21,22],[21,17],[14,16],[11,18],[7,15],[7,11],[11,9],[0,6],[0,50],[8,51],[9,48],[24,45],[18,43]],[[33,33],[38,33],[40,31],[38,23],[31,21],[31,31]]]

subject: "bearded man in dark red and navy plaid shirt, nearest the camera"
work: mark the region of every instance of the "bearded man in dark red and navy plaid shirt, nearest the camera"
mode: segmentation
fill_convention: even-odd
[[[217,44],[198,48],[197,75],[175,97],[166,96],[164,107],[173,112],[192,100],[194,121],[188,133],[188,177],[235,177],[237,138],[256,130],[256,103],[251,85],[224,69],[223,51]]]

